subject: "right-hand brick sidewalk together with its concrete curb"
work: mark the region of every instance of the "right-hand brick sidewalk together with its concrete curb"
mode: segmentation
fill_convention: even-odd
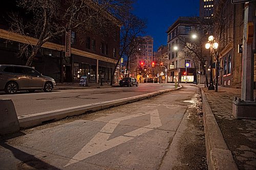
[[[199,86],[209,169],[256,169],[256,120],[232,117],[232,100],[241,89],[219,86],[214,92]]]

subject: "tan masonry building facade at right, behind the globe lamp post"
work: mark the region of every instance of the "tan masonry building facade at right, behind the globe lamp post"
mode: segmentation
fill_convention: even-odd
[[[218,1],[215,6],[218,8]],[[238,48],[243,44],[243,10],[244,3],[231,4],[227,1],[225,4],[224,17],[228,19],[228,24],[225,25],[221,42],[217,40],[221,49],[219,85],[232,86],[242,82],[243,54],[239,53]],[[215,32],[215,36],[218,37],[218,32]]]

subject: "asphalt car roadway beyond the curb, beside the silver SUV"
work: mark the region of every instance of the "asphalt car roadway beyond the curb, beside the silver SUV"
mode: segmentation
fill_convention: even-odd
[[[86,104],[105,102],[174,88],[172,84],[140,84],[139,87],[109,87],[54,90],[50,93],[21,91],[17,94],[0,93],[0,99],[12,99],[17,116],[39,113]]]

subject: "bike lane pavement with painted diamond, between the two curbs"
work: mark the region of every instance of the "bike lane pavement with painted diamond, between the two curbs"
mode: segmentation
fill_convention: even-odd
[[[136,88],[113,89],[111,94],[131,89]],[[186,110],[195,105],[196,90],[185,86],[7,136],[0,142],[0,169],[188,169],[177,147],[191,119]]]

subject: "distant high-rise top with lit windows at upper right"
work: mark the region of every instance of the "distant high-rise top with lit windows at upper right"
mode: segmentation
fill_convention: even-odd
[[[212,18],[214,16],[214,0],[200,0],[199,16]]]

